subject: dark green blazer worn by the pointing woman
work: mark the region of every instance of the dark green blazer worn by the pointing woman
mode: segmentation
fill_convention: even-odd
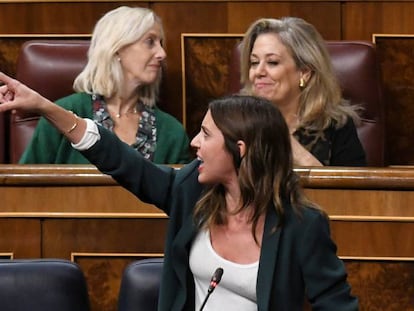
[[[199,162],[194,160],[179,170],[155,165],[108,130],[99,130],[101,139],[84,155],[101,172],[169,216],[158,310],[194,311],[189,254],[198,230],[193,208],[203,190],[198,182]],[[314,310],[358,310],[358,299],[350,293],[345,266],[330,238],[329,220],[312,208],[305,208],[301,217],[289,204],[284,210],[285,224],[276,231],[275,209],[270,207],[266,215],[257,278],[258,311],[302,311],[305,297]]]

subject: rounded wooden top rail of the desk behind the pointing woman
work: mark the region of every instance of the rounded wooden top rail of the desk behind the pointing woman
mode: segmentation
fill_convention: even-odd
[[[180,165],[173,167],[179,169]],[[414,190],[414,167],[297,167],[305,188]],[[117,183],[92,165],[0,164],[0,186],[114,186]]]

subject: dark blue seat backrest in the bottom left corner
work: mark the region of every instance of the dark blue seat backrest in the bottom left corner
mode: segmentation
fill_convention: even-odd
[[[63,259],[0,260],[0,310],[89,311],[84,274]]]

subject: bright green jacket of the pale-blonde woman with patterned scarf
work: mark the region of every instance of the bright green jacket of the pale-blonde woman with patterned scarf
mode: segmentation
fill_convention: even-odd
[[[93,118],[92,99],[86,93],[75,93],[56,102],[81,118]],[[189,139],[182,124],[173,116],[155,108],[157,147],[154,162],[178,164],[190,161]],[[40,118],[20,164],[89,164],[73,149],[65,137],[45,118]]]

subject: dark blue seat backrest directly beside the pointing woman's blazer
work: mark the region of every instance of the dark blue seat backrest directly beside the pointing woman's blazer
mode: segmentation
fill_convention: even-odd
[[[148,258],[129,264],[119,290],[118,311],[156,311],[163,258]]]

